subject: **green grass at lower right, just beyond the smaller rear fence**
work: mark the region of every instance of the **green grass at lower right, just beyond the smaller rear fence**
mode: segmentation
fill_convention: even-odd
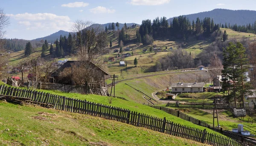
[[[175,108],[177,109],[177,108]],[[199,120],[206,121],[208,124],[212,125],[212,110],[202,110],[202,109],[185,109],[180,108],[181,111],[185,112],[187,115],[195,117]],[[252,134],[256,134],[256,123],[247,123],[248,116],[244,117],[244,121],[239,120],[237,117],[232,117],[232,114],[226,110],[218,112],[218,120],[220,126],[225,130],[232,130],[237,128],[238,124],[244,125],[244,130],[250,131]],[[215,119],[215,124],[217,125],[217,119]]]

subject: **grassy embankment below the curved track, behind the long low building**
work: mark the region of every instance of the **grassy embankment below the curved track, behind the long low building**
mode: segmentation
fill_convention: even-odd
[[[201,77],[209,77],[208,72],[205,71],[198,71],[198,72],[180,72],[180,73],[174,73],[174,74],[162,74],[162,75],[156,75],[156,76],[150,76],[150,77],[143,77],[139,79],[133,79],[133,80],[125,80],[123,82],[116,84],[116,96],[122,96],[126,97],[129,100],[134,100],[138,103],[145,103],[145,100],[143,99],[143,94],[136,91],[140,90],[141,92],[144,92],[148,96],[152,97],[151,94],[153,92],[166,89],[167,86],[169,86],[170,79],[171,83],[178,83],[179,78],[181,78],[180,82],[195,82],[196,76]],[[126,84],[134,87],[126,85]],[[110,93],[110,88],[109,88]]]

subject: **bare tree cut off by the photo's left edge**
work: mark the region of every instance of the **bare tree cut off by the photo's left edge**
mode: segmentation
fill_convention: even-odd
[[[4,29],[9,26],[9,24],[10,17],[0,8],[0,78],[2,78],[7,71],[6,67],[8,65],[9,55],[4,49],[5,40],[3,37],[5,34]]]

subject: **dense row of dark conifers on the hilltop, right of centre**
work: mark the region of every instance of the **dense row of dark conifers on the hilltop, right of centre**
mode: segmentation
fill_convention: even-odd
[[[168,37],[187,40],[189,37],[203,39],[220,28],[221,24],[215,24],[213,19],[205,17],[203,20],[197,18],[196,21],[189,21],[184,16],[174,17],[169,24],[166,17],[157,17],[153,20],[143,20],[139,31],[136,33],[136,42],[143,45],[152,44],[153,39]]]

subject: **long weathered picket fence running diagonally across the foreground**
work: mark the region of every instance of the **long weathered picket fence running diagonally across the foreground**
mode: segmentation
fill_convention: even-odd
[[[44,103],[51,105],[52,108],[67,112],[75,112],[80,114],[88,114],[105,119],[116,120],[122,123],[128,123],[134,126],[140,126],[169,135],[183,137],[200,143],[207,143],[213,146],[246,146],[243,140],[228,138],[221,135],[212,134],[204,130],[184,126],[179,123],[158,117],[152,117],[143,113],[137,113],[128,109],[122,109],[114,106],[102,105],[86,100],[78,100],[69,97],[63,97],[45,92],[38,92],[26,89],[18,89],[14,87],[0,86],[0,94],[12,97],[31,98],[32,103]],[[178,112],[173,112],[178,114]],[[179,112],[180,114],[180,112]],[[184,117],[188,118],[188,117]],[[190,118],[191,120],[192,118]],[[196,120],[194,120],[196,122]],[[248,146],[256,146],[251,142]]]

